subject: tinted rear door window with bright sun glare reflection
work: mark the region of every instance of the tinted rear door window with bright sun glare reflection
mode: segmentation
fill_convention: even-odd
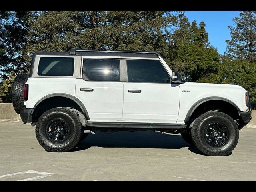
[[[119,63],[119,59],[85,59],[83,79],[91,81],[119,81]]]

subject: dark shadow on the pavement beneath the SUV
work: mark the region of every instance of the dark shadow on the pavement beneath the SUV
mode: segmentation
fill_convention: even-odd
[[[161,148],[188,149],[196,154],[204,155],[194,146],[186,143],[180,134],[161,134],[160,132],[115,132],[89,134],[88,137],[72,149],[72,151],[86,150],[92,146],[106,148]]]

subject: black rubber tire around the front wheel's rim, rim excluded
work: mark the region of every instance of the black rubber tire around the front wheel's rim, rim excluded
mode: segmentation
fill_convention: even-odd
[[[208,144],[204,138],[204,130],[211,122],[221,122],[226,125],[229,131],[229,138],[226,144],[214,147]],[[231,154],[236,147],[239,138],[239,131],[236,122],[227,114],[222,112],[206,112],[199,116],[191,129],[192,140],[196,148],[208,156],[226,156]]]

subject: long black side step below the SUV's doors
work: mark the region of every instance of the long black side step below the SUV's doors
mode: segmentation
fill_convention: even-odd
[[[153,128],[153,129],[184,129],[185,124],[163,123],[118,123],[118,122],[87,122],[89,127],[100,128]]]

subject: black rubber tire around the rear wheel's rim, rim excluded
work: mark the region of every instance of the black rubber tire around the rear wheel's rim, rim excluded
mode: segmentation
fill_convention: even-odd
[[[64,119],[70,127],[68,138],[61,143],[51,142],[46,136],[46,126],[54,118]],[[49,152],[67,152],[74,148],[82,136],[82,124],[78,115],[66,108],[53,108],[44,112],[36,123],[36,139]]]

